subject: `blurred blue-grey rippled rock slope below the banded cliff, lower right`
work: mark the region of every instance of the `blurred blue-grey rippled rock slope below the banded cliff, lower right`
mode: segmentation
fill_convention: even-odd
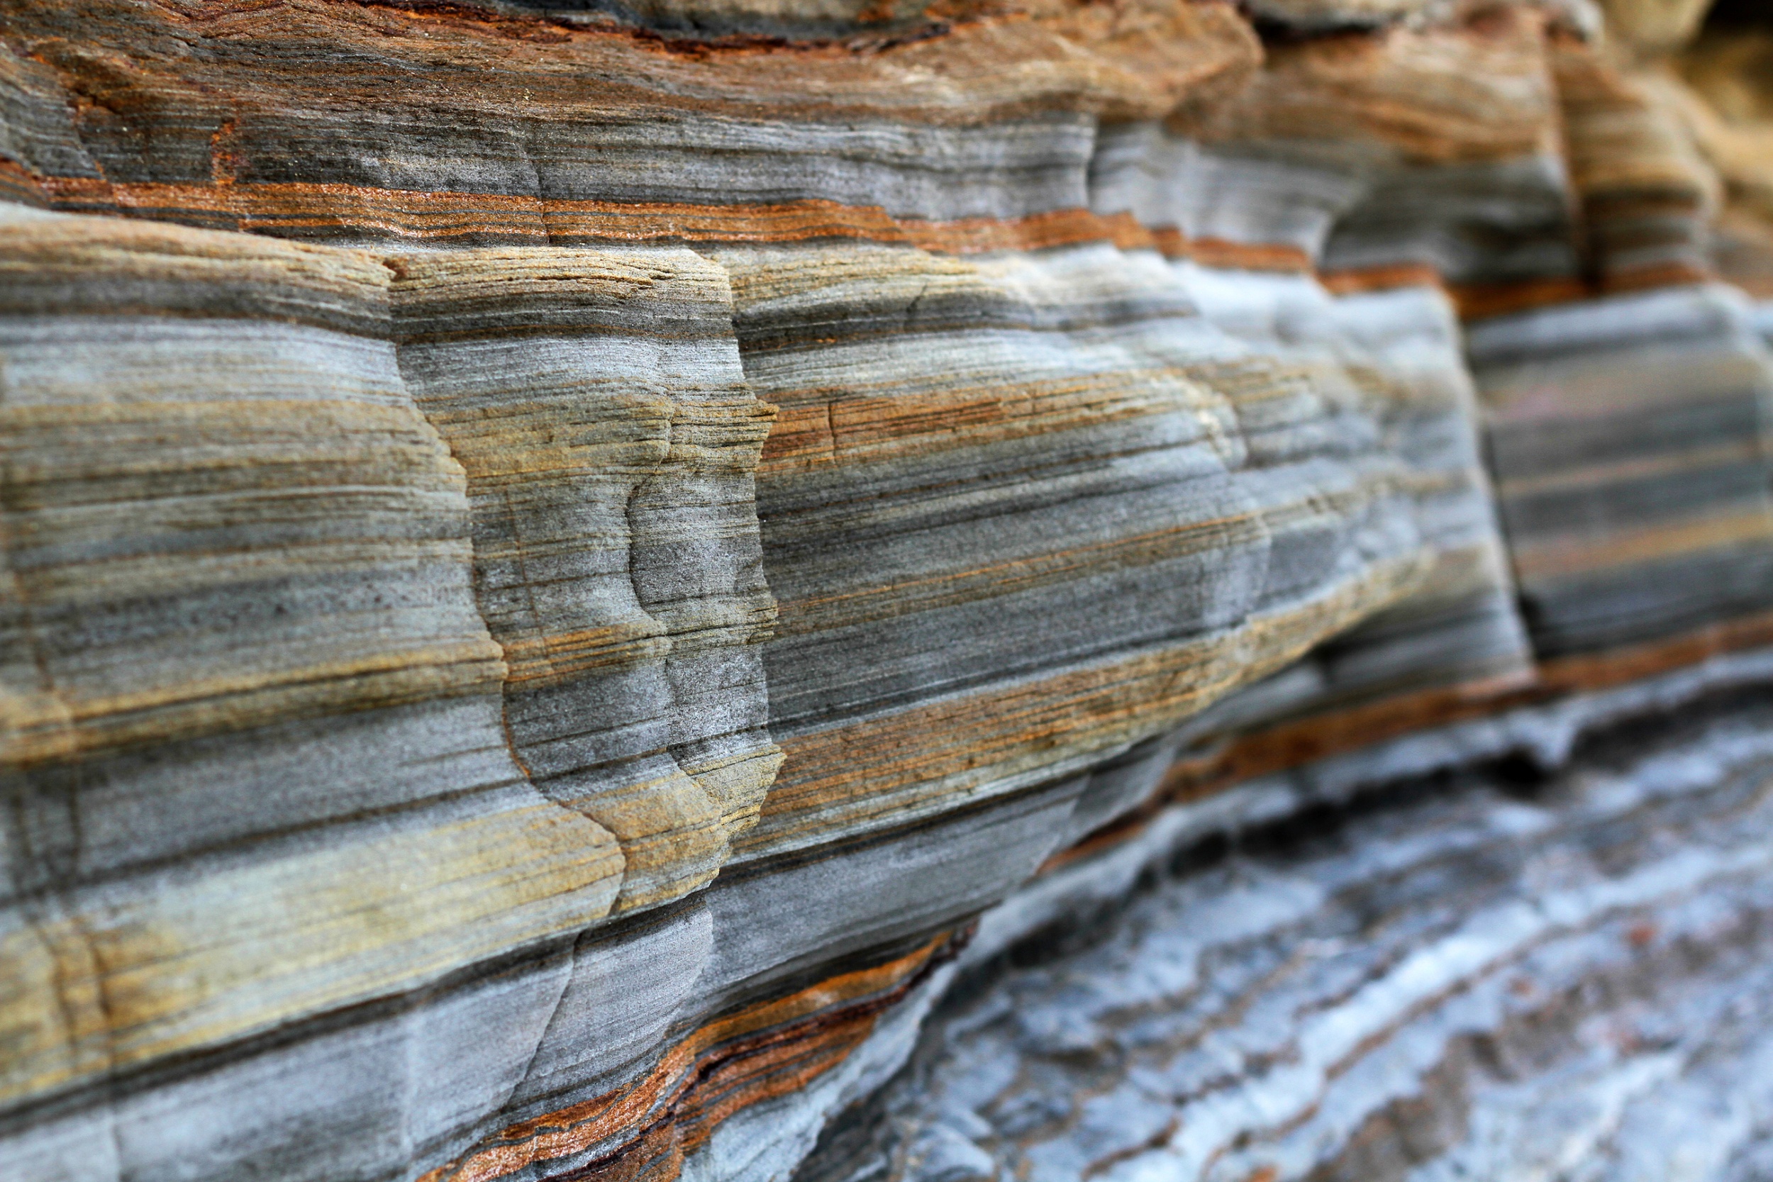
[[[794,1177],[1764,1177],[1769,734],[1177,826],[1131,890],[1060,872]]]

